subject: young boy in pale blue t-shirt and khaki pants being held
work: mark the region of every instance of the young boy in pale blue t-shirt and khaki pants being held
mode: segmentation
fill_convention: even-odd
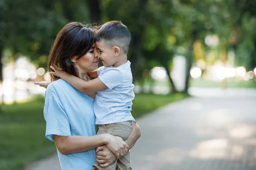
[[[85,82],[78,77],[51,67],[50,72],[84,93],[97,92],[94,103],[97,134],[110,133],[128,139],[132,130],[131,105],[134,99],[131,63],[127,53],[131,41],[128,28],[119,21],[105,23],[97,32],[96,48],[104,66],[91,72],[95,78]],[[124,150],[120,158],[109,165],[107,170],[131,170],[130,152]],[[97,162],[93,169],[102,169]]]

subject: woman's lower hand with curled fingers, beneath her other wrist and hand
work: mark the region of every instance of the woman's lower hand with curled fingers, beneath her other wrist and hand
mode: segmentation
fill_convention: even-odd
[[[108,149],[106,145],[97,147],[96,149],[96,161],[101,167],[108,167],[116,160],[116,155]]]

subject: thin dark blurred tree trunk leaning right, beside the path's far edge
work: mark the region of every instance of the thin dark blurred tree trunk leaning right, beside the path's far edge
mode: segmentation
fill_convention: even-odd
[[[190,68],[192,67],[192,60],[193,60],[193,45],[195,40],[197,39],[198,32],[192,31],[192,40],[191,44],[189,45],[189,51],[186,59],[186,81],[185,81],[185,89],[183,93],[188,93],[189,89],[189,78],[190,78]]]

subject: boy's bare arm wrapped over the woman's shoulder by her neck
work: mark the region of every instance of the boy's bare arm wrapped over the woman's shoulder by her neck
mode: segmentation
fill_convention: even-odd
[[[50,67],[52,68],[52,70],[54,72],[49,72],[49,74],[52,74],[57,77],[60,77],[61,79],[64,79],[66,82],[68,82],[74,88],[78,89],[79,91],[81,91],[83,93],[95,92],[95,91],[99,91],[99,90],[108,88],[99,78],[96,78],[96,79],[86,82],[83,79],[80,79],[76,76],[73,76],[72,74],[62,71],[61,69],[56,69],[57,66],[55,66],[56,68],[53,66],[50,66]]]

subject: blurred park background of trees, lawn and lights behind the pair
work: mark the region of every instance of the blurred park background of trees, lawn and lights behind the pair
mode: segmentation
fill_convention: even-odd
[[[255,97],[256,1],[0,0],[1,170],[56,152],[44,137],[45,89],[33,82],[50,81],[58,31],[110,20],[131,32],[135,118],[189,96]]]

